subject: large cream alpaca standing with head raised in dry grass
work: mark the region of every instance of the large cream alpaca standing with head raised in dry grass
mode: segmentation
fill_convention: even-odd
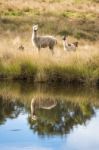
[[[38,25],[33,26],[33,33],[32,33],[32,44],[33,46],[37,47],[40,51],[41,48],[49,47],[52,54],[54,53],[54,46],[57,43],[57,40],[53,36],[38,36]]]

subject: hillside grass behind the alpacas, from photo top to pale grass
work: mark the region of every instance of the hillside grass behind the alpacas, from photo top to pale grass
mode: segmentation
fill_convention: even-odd
[[[68,34],[77,39],[99,40],[98,4],[82,0],[38,0],[29,3],[1,2],[0,33],[31,34],[31,27],[38,23],[44,34]],[[51,7],[51,4],[53,7]],[[58,10],[58,11],[57,11]],[[18,28],[17,28],[18,27]],[[57,29],[57,30],[56,30]]]

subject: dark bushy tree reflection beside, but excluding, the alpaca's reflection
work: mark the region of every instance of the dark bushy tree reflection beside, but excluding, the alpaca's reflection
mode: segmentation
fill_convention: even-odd
[[[36,110],[36,121],[28,118],[30,128],[40,135],[66,134],[74,125],[85,124],[94,114],[90,104],[75,105],[72,102],[58,101],[52,110]]]

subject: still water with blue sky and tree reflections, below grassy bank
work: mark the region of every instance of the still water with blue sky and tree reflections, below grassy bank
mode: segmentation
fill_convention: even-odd
[[[98,89],[0,83],[0,150],[99,150]]]

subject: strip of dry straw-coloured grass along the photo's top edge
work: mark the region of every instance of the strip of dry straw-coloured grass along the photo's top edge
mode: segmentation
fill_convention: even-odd
[[[0,0],[1,11],[5,9],[24,9],[24,8],[37,8],[44,11],[54,11],[57,12],[71,9],[77,11],[93,11],[99,12],[99,4],[92,0]]]

